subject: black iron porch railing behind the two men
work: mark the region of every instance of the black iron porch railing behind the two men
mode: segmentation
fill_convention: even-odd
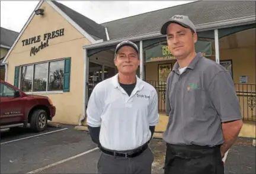
[[[151,84],[158,93],[158,110],[165,111],[165,81],[146,80]],[[88,98],[91,96],[92,89],[97,83],[88,84]],[[241,107],[242,117],[244,120],[256,121],[256,95],[255,84],[235,83],[236,94]]]

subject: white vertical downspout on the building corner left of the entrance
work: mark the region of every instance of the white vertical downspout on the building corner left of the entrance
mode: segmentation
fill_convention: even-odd
[[[88,70],[88,57],[87,57],[87,49],[84,49],[84,88],[83,88],[83,113],[82,117],[79,119],[78,125],[82,125],[82,121],[86,118],[86,109],[87,109],[87,70]]]

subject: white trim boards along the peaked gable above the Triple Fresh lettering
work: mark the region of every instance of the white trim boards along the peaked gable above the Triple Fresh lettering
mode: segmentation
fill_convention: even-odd
[[[73,27],[76,28],[76,30],[78,30],[85,38],[87,38],[91,43],[98,43],[99,41],[96,41],[94,38],[92,38],[84,29],[82,29],[78,24],[76,24],[76,22],[74,22],[68,15],[65,14],[65,12],[63,12],[60,8],[58,8],[55,4],[53,4],[52,1],[40,1],[39,4],[37,4],[37,7],[34,9],[34,11],[36,11],[36,9],[39,9],[41,7],[41,5],[43,4],[43,2],[47,2],[53,9],[56,10],[56,12],[58,12],[60,15],[62,15],[63,18],[65,18],[65,20],[67,20],[71,25],[73,25]],[[25,29],[27,28],[28,24],[30,24],[30,21],[33,19],[34,15],[36,15],[36,12],[32,12],[32,14],[30,15],[30,18],[28,18],[28,21],[25,23],[24,27],[22,28],[20,34],[18,35],[18,37],[16,38],[16,40],[14,41],[14,44],[12,44],[11,49],[9,49],[7,55],[5,56],[5,59],[3,60],[2,63],[7,63],[6,60],[9,56],[9,54],[11,53],[12,49],[14,48],[14,46],[17,44],[18,40],[20,39],[20,37],[23,35]],[[103,41],[103,40],[100,40]]]

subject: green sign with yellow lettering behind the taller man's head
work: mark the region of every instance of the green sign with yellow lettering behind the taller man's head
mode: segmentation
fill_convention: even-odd
[[[162,60],[173,60],[175,57],[169,51],[166,44],[159,44],[147,49],[146,62],[157,62]],[[210,41],[197,41],[196,52],[201,52],[203,56],[212,56],[212,43]]]

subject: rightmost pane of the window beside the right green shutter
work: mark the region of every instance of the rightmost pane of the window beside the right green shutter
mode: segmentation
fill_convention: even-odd
[[[48,91],[63,91],[65,60],[50,62]]]

